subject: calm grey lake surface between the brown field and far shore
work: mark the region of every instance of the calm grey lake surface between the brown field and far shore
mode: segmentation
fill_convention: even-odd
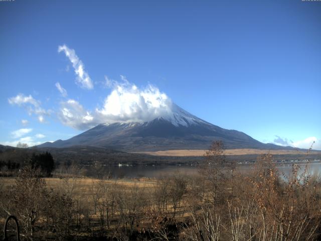
[[[285,175],[289,175],[293,164],[297,164],[299,166],[299,172],[303,172],[305,166],[307,165],[308,172],[310,174],[321,174],[321,162],[320,161],[311,161],[306,163],[283,163],[276,164],[280,173],[284,173]],[[246,174],[251,171],[254,167],[253,164],[240,164],[236,165],[235,172]],[[228,168],[226,168],[228,170]],[[163,176],[173,176],[178,174],[183,175],[196,175],[198,174],[198,168],[196,166],[188,166],[188,165],[175,165],[175,166],[161,166],[161,165],[114,165],[114,166],[105,166],[100,170],[100,173],[104,176],[110,176],[114,178],[139,178],[139,177],[148,177],[148,178],[159,178]],[[94,174],[91,174],[94,176]]]

